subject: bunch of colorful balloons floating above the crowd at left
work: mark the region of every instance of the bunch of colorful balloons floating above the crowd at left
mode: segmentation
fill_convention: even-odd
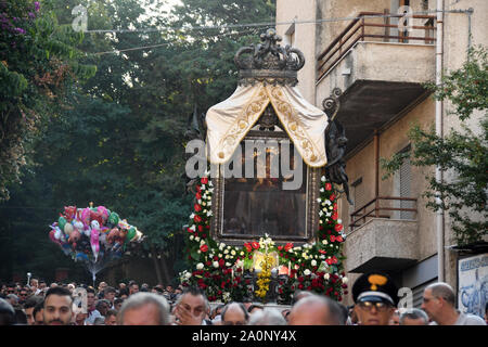
[[[104,206],[64,207],[49,232],[52,242],[75,261],[95,264],[120,258],[128,244],[139,243],[143,234],[137,227]]]

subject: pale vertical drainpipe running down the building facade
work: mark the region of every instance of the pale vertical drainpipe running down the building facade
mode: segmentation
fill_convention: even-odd
[[[444,46],[444,0],[437,0],[437,30],[436,30],[436,86],[441,85],[442,78],[442,46]],[[436,134],[442,137],[442,101],[436,100]],[[436,182],[442,181],[442,171],[436,166]],[[436,203],[440,204],[441,200],[438,195]],[[445,282],[444,266],[444,210],[436,213],[436,234],[437,234],[437,280]]]

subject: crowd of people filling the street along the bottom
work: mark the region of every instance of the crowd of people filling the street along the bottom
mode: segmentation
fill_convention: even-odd
[[[291,306],[252,301],[214,304],[198,288],[150,287],[134,281],[97,288],[37,279],[1,286],[0,325],[486,325],[455,309],[455,293],[444,282],[427,286],[421,308],[398,309],[397,287],[387,274],[367,273],[354,284],[355,305],[299,291]],[[81,295],[85,295],[81,297]],[[82,299],[77,299],[78,297]],[[485,311],[488,310],[488,305]]]

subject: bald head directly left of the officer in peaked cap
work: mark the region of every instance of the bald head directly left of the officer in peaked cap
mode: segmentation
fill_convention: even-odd
[[[324,296],[309,295],[295,304],[290,325],[341,325],[337,304]]]

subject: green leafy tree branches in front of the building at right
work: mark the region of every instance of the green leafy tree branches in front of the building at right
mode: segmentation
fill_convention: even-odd
[[[435,129],[414,125],[409,130],[412,143],[411,164],[420,167],[438,166],[449,176],[437,182],[433,175],[426,177],[428,189],[424,192],[427,207],[447,211],[452,220],[454,239],[459,245],[481,241],[488,234],[488,61],[487,51],[479,47],[468,52],[461,68],[442,78],[439,87],[428,85],[437,100],[449,101],[453,107],[450,117],[458,117],[461,130],[451,129],[440,138]],[[478,112],[478,127],[468,120]],[[398,170],[406,154],[382,160],[388,175]],[[440,196],[440,203],[436,200]]]

